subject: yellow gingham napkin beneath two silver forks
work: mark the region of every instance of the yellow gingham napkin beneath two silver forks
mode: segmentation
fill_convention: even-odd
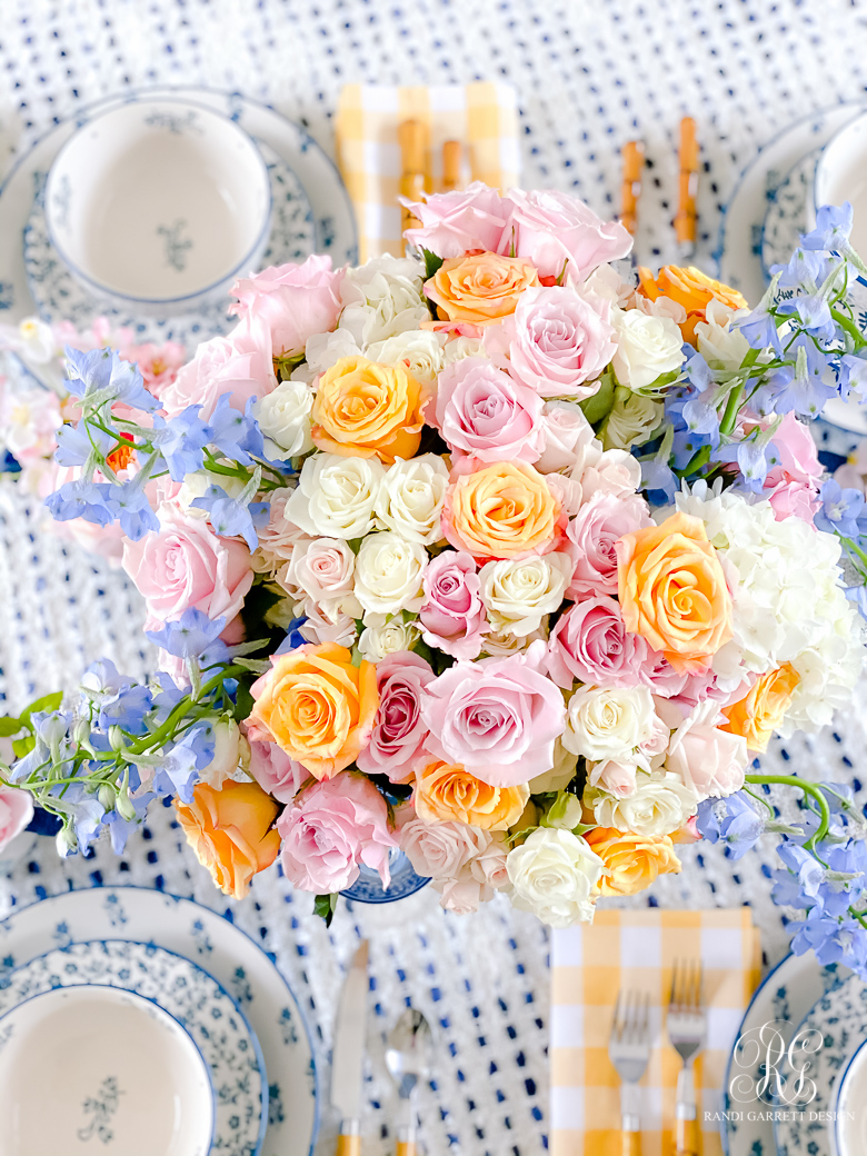
[[[617,991],[651,998],[653,1048],[642,1080],[643,1156],[674,1151],[680,1059],[665,1008],[675,959],[701,959],[707,1046],[695,1076],[704,1156],[722,1151],[719,1122],[726,1064],[761,971],[758,931],[748,907],[732,911],[598,910],[593,924],[554,932],[551,992],[553,1156],[620,1156],[620,1080],[608,1059]]]

